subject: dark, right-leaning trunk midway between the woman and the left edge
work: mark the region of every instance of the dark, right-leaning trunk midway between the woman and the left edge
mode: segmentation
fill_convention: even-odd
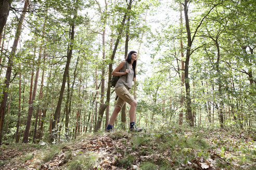
[[[74,16],[74,19],[75,18],[76,18],[76,15]],[[58,104],[57,104],[57,107],[55,110],[54,119],[53,119],[53,123],[52,123],[52,130],[54,130],[54,131],[56,131],[55,127],[56,127],[56,124],[59,122],[61,102],[62,102],[64,90],[65,90],[67,75],[68,75],[68,71],[69,71],[69,65],[70,65],[70,61],[71,61],[71,57],[72,57],[73,41],[74,41],[74,27],[75,27],[75,23],[73,21],[72,26],[71,26],[71,39],[70,39],[70,48],[69,48],[70,50],[69,50],[69,53],[67,56],[67,63],[65,66],[65,71],[63,73],[62,86],[61,86],[61,90],[60,90],[60,94],[59,94],[59,100],[58,100]],[[49,140],[54,141],[54,137],[56,137],[56,133],[52,132],[52,134],[49,137]]]

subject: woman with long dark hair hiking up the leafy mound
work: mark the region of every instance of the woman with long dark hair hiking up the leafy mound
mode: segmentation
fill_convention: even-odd
[[[118,113],[122,109],[125,102],[131,105],[129,110],[130,116],[130,127],[129,131],[140,132],[142,129],[137,129],[135,127],[135,111],[137,102],[134,100],[133,96],[130,94],[129,90],[132,88],[132,81],[136,77],[135,68],[136,68],[136,60],[137,60],[137,52],[131,51],[127,55],[125,61],[122,61],[116,69],[113,70],[113,76],[121,76],[114,87],[116,94],[118,95],[118,100],[116,106],[114,107],[114,111],[109,119],[109,124],[107,126],[106,132],[113,131],[114,120],[116,120]],[[126,68],[125,62],[129,63],[129,68]],[[123,76],[126,75],[127,76]],[[127,78],[126,78],[127,77]]]

